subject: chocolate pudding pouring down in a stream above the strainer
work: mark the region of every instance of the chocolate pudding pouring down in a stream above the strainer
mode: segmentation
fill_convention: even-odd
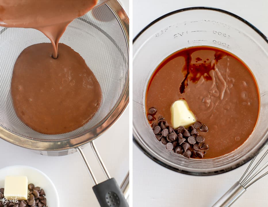
[[[98,0],[0,0],[0,26],[34,28],[51,41],[53,57],[57,58],[58,43],[72,20],[83,16]]]

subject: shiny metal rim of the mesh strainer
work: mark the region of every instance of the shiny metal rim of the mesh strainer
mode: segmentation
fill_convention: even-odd
[[[125,41],[127,45],[127,52],[129,53],[129,18],[125,13],[122,6],[116,0],[110,0],[106,5],[111,9],[114,13],[118,23],[121,26],[122,31],[124,32]],[[122,17],[118,15],[118,11],[123,11],[124,21],[122,21]],[[112,108],[112,110],[104,117],[104,119],[96,124],[91,129],[85,131],[83,134],[78,136],[73,136],[66,139],[61,140],[41,140],[41,139],[30,139],[29,137],[25,137],[23,135],[19,135],[14,133],[6,128],[0,126],[0,137],[9,143],[28,148],[31,150],[39,150],[39,151],[58,151],[58,150],[68,150],[71,148],[76,148],[81,145],[84,145],[90,141],[93,141],[102,133],[104,133],[107,129],[109,129],[112,124],[116,122],[116,120],[121,116],[124,112],[125,108],[129,104],[129,65],[127,72],[127,79],[122,90],[122,93]]]

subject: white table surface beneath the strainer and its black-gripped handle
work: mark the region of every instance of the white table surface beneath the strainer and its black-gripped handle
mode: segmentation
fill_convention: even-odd
[[[128,1],[119,1],[129,14]],[[110,129],[96,139],[95,145],[111,177],[114,177],[120,185],[129,170],[129,107]],[[92,190],[93,182],[78,153],[61,157],[41,156],[2,139],[0,139],[0,147],[0,168],[11,165],[27,165],[41,170],[55,184],[60,198],[60,206],[99,206]],[[90,145],[87,145],[83,151],[97,181],[99,183],[104,181],[106,178]]]

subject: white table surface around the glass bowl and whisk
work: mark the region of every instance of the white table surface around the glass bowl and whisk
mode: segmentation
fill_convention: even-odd
[[[162,3],[161,3],[162,2]],[[268,37],[268,1],[266,0],[134,0],[133,37],[156,18],[186,7],[208,6],[230,11],[248,20]],[[236,181],[247,164],[231,172],[195,177],[168,170],[149,159],[133,146],[133,206],[134,207],[209,207]],[[201,190],[197,190],[197,189]],[[268,206],[268,176],[250,186],[233,207]]]

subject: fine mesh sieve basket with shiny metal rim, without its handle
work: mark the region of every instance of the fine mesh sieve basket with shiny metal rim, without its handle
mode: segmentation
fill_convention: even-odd
[[[102,89],[102,104],[95,116],[65,134],[45,135],[30,129],[16,116],[12,104],[10,85],[18,55],[30,45],[49,43],[49,39],[35,29],[0,27],[1,138],[33,150],[66,150],[95,139],[120,116],[128,104],[128,37],[111,4],[113,1],[72,21],[60,39],[85,59]]]

